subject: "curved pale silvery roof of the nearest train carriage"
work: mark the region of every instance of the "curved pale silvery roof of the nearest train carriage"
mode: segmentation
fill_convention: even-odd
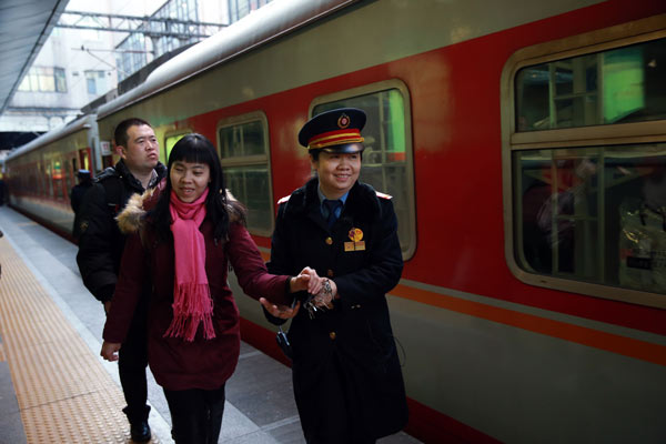
[[[157,68],[143,83],[101,105],[97,110],[98,119],[113,114],[357,1],[290,0],[268,3]]]

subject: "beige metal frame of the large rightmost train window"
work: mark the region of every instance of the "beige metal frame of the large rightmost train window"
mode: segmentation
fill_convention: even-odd
[[[526,67],[567,58],[609,51],[666,38],[666,14],[636,20],[620,26],[523,48],[506,61],[501,79],[502,181],[504,204],[504,252],[508,269],[519,281],[535,286],[567,291],[602,299],[666,309],[666,295],[608,283],[593,283],[539,274],[522,268],[516,254],[522,254],[522,221],[514,221],[513,157],[527,150],[575,151],[588,148],[613,148],[647,143],[666,143],[666,120],[596,124],[578,128],[518,131],[516,129],[516,74]],[[515,218],[518,219],[518,218]],[[602,230],[605,229],[602,228]],[[516,246],[516,240],[519,245]]]

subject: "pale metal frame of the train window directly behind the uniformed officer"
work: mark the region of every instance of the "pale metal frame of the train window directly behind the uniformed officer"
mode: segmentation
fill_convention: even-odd
[[[335,91],[332,93],[317,95],[310,102],[310,107],[307,109],[307,115],[312,117],[313,111],[316,107],[337,102],[341,100],[353,99],[362,95],[370,95],[383,91],[389,90],[397,90],[403,98],[403,115],[404,115],[404,138],[405,138],[405,181],[406,181],[406,190],[405,193],[407,195],[407,218],[410,222],[408,234],[410,240],[406,242],[402,250],[403,261],[408,261],[414,256],[416,252],[416,244],[418,242],[417,231],[416,231],[416,193],[415,193],[415,183],[414,183],[414,149],[413,149],[413,139],[412,139],[412,100],[410,95],[410,90],[407,85],[398,79],[389,79],[380,82],[369,83],[356,88],[351,88],[343,91]],[[362,131],[363,132],[363,131]],[[361,175],[363,175],[363,169],[361,170]],[[387,192],[386,190],[377,190],[381,192]]]

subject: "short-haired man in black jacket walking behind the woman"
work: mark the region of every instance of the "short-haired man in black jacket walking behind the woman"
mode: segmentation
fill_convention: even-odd
[[[130,196],[157,186],[167,174],[159,161],[159,144],[151,125],[141,119],[128,119],[114,132],[115,148],[121,160],[105,169],[87,192],[80,213],[80,239],[77,263],[85,287],[111,307],[125,236],[121,234],[115,215]],[[148,425],[150,406],[147,405],[148,384],[145,369],[148,351],[145,339],[145,304],[134,313],[128,340],[119,352],[118,371],[128,403],[123,412],[130,422],[132,440],[151,438]]]

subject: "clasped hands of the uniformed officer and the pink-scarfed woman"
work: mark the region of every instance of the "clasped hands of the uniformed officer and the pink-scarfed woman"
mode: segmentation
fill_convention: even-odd
[[[312,311],[332,309],[333,300],[337,297],[337,286],[335,285],[335,282],[326,278],[320,278],[316,274],[316,271],[310,266],[304,268],[297,276],[291,279],[290,291],[292,293],[307,291],[307,293],[312,295],[305,303],[305,306],[311,314]],[[265,297],[260,297],[259,302],[269,313],[280,319],[294,317],[301,307],[300,301],[293,306],[274,304]]]

